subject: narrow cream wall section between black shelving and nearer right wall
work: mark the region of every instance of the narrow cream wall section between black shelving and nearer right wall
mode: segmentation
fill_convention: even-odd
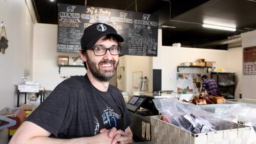
[[[227,52],[227,70],[235,71],[235,98],[239,98],[239,93],[242,93],[243,81],[243,49],[242,47],[229,48]],[[232,79],[232,78],[231,78]]]

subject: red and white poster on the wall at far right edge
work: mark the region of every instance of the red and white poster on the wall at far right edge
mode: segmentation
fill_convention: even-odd
[[[256,74],[256,46],[244,48],[244,75]]]

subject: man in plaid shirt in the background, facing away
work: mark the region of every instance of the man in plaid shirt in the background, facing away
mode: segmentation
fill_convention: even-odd
[[[207,75],[202,76],[203,84],[201,93],[204,93],[206,90],[209,95],[219,94],[218,84],[214,79],[208,78]]]

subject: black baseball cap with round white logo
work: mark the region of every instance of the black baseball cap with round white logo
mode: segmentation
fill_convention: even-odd
[[[113,34],[117,42],[124,42],[121,35],[110,25],[104,23],[95,23],[84,29],[84,34],[81,37],[81,49],[91,48],[104,35]]]

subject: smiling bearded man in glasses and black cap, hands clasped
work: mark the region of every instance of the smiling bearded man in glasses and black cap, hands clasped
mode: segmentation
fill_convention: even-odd
[[[107,24],[87,27],[79,50],[87,74],[60,83],[20,126],[10,143],[133,142],[131,119],[122,94],[109,85],[117,70],[119,42],[123,41]]]

